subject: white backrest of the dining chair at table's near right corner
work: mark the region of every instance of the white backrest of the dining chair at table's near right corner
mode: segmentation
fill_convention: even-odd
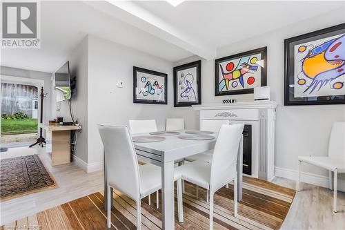
[[[229,182],[237,172],[237,153],[244,124],[224,124],[221,126],[215,151],[213,152],[210,190],[217,191],[219,186]]]

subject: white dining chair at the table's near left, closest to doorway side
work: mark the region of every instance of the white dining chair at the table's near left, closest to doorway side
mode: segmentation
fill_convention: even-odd
[[[161,189],[161,168],[153,164],[140,165],[127,126],[98,126],[106,160],[107,195],[110,188],[137,202],[137,229],[141,229],[141,199]],[[177,180],[179,222],[183,222],[181,175]],[[107,200],[107,227],[111,227],[111,201]]]

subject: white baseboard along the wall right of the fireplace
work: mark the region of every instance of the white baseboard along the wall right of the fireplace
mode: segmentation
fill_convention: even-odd
[[[339,174],[338,174],[339,175]],[[289,180],[296,180],[297,179],[297,171],[292,169],[284,169],[280,167],[275,167],[275,176],[280,178],[286,178]],[[328,188],[328,177],[324,175],[317,175],[313,173],[301,173],[301,182],[306,182],[308,184],[314,184],[317,186],[322,186]],[[345,180],[340,180],[338,178],[338,191],[345,192]]]

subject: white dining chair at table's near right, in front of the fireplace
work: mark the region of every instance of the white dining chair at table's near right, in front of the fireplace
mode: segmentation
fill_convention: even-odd
[[[222,186],[234,181],[234,215],[237,217],[237,153],[244,124],[222,125],[212,162],[195,161],[177,167],[183,180],[210,191],[210,229],[213,229],[213,196]],[[231,140],[231,142],[229,142]]]

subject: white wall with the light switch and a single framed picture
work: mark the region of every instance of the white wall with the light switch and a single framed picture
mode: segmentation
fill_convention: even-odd
[[[168,105],[133,104],[133,66],[168,74]],[[97,124],[128,125],[128,119],[156,119],[163,130],[173,108],[172,63],[112,41],[89,36],[88,164],[103,161]],[[124,88],[117,88],[117,80]]]

